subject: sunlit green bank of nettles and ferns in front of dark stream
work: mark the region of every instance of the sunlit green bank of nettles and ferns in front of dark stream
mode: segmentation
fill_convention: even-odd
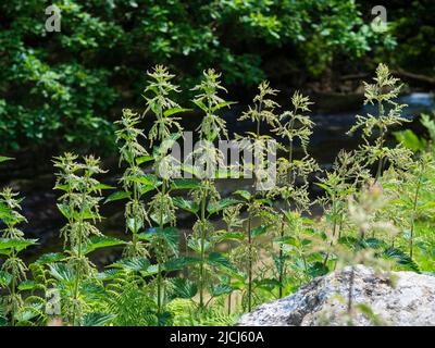
[[[257,132],[236,135],[257,154],[245,167],[251,186],[228,197],[216,181],[245,171],[213,171],[211,164],[222,164],[227,154],[213,146],[227,137],[221,111],[233,104],[221,75],[204,71],[190,87],[191,102],[182,105],[175,98],[184,90],[174,80],[166,67],[153,67],[142,94],[146,112],[124,109],[115,122],[123,170],[117,187],[99,181],[105,170],[94,156],[53,158],[62,250],[29,264],[21,259],[38,240],[21,231],[23,198],[2,189],[1,325],[232,325],[256,306],[345,265],[434,274],[435,122],[421,119],[425,138],[402,130],[395,133],[398,141],[389,141],[387,134],[409,119],[396,102],[401,84],[386,65],[364,84],[365,103],[376,112],[356,116],[349,135],[359,147],[337,153],[325,171],[310,156],[309,98],[295,92],[279,105],[279,91],[262,82],[239,115]],[[202,141],[189,154],[196,165],[181,163],[171,151],[190,109],[202,115],[195,129]],[[273,138],[276,182],[269,187],[272,150],[265,144]],[[190,178],[175,175],[183,172]],[[312,197],[313,183],[320,197]],[[98,227],[101,206],[115,201],[124,203],[124,239]],[[315,207],[322,214],[312,214]],[[177,228],[182,211],[194,220],[187,236]],[[123,248],[122,257],[98,269],[91,253],[112,247]]]

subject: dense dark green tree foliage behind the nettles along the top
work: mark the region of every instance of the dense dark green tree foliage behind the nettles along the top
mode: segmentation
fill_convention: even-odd
[[[370,27],[370,1],[54,1],[61,33],[45,29],[51,1],[2,2],[0,148],[112,148],[111,121],[121,105],[138,104],[156,63],[185,89],[213,66],[241,101],[263,78],[334,88],[333,75],[371,69],[376,57],[432,71],[433,4],[390,2],[384,34]]]

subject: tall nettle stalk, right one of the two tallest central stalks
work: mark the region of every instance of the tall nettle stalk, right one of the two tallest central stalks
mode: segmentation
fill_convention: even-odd
[[[198,207],[199,214],[194,225],[194,235],[189,240],[189,247],[199,254],[198,288],[199,307],[204,308],[206,286],[210,277],[210,270],[207,253],[212,250],[214,243],[214,226],[209,221],[209,215],[217,212],[216,209],[221,199],[216,190],[214,178],[219,176],[223,167],[223,153],[214,146],[215,139],[227,137],[226,123],[217,112],[232,104],[219,96],[220,91],[226,91],[221,85],[220,74],[214,70],[203,72],[203,78],[192,90],[194,103],[201,109],[203,117],[197,128],[200,137],[200,146],[191,153],[196,161],[194,173],[200,179],[198,187],[191,190],[192,204]]]

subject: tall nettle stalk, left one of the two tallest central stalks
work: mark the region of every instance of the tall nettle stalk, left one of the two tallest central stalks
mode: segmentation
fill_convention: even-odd
[[[163,278],[164,264],[171,256],[178,254],[178,234],[175,228],[176,207],[170,195],[171,181],[179,172],[179,163],[170,153],[172,144],[179,138],[183,127],[179,124],[178,113],[187,111],[173,101],[172,95],[179,92],[177,86],[172,83],[175,77],[170,74],[167,69],[157,65],[151,72],[148,72],[148,85],[144,91],[144,98],[147,103],[146,113],[151,112],[156,121],[149,132],[148,139],[151,146],[154,141],[160,141],[160,146],[154,147],[154,172],[159,177],[149,177],[149,185],[157,190],[149,203],[150,219],[158,224],[146,235],[151,243],[151,247],[157,258],[157,303],[158,316],[162,318],[164,312],[165,281]]]

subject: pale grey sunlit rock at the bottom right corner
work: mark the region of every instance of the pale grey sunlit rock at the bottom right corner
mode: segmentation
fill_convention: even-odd
[[[313,279],[297,293],[258,307],[240,326],[435,325],[435,277],[413,272],[380,273],[350,266]]]

